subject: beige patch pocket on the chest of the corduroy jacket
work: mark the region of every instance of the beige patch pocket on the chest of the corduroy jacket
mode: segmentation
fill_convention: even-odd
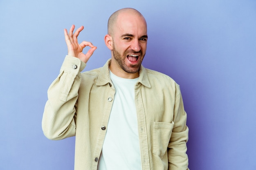
[[[168,147],[174,122],[153,122],[153,154],[162,157]]]

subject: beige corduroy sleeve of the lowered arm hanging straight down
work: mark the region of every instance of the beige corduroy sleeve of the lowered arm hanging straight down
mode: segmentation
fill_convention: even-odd
[[[180,87],[177,84],[173,121],[174,127],[168,145],[168,170],[189,170],[189,160],[186,154],[189,128],[186,126],[186,112]]]

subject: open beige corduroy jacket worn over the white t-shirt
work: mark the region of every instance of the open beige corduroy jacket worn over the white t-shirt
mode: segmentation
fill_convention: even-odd
[[[97,170],[115,100],[109,64],[81,73],[86,64],[67,55],[48,90],[43,132],[52,140],[76,136],[75,170]],[[189,130],[179,85],[141,66],[134,89],[142,170],[188,170]]]

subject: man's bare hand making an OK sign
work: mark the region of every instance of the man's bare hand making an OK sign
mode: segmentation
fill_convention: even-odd
[[[67,34],[67,29],[64,29],[65,41],[67,44],[67,55],[74,56],[79,58],[82,62],[87,63],[89,58],[92,56],[93,52],[97,49],[96,46],[92,45],[91,42],[83,41],[81,44],[78,43],[77,37],[79,33],[83,30],[83,26],[76,30],[73,34],[75,26],[72,25],[70,28],[70,32]],[[91,49],[88,50],[86,54],[83,53],[83,49],[85,46],[90,46]]]

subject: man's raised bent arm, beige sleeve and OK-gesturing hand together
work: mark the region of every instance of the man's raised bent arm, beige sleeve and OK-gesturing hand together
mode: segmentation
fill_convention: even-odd
[[[64,30],[68,55],[61,66],[58,77],[48,89],[48,100],[43,113],[42,128],[49,139],[59,140],[76,135],[76,100],[81,84],[81,71],[85,63],[97,49],[91,42],[78,43],[77,37],[83,26],[73,34],[75,26],[70,32]],[[83,49],[90,46],[86,54]]]

